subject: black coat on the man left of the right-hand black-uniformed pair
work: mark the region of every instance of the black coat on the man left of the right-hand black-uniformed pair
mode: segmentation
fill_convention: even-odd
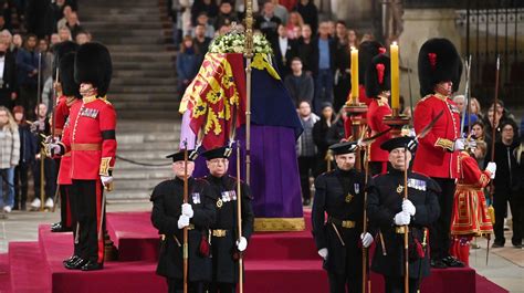
[[[318,250],[327,249],[324,269],[336,274],[361,274],[361,265],[348,263],[361,261],[359,243],[363,232],[365,175],[355,169],[328,171],[315,179],[315,190],[312,210],[313,237]],[[344,228],[331,219],[354,221],[355,227]],[[340,242],[337,231],[345,245]]]

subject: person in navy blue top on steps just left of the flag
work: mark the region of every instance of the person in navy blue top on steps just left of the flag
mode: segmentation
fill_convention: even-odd
[[[180,46],[180,53],[177,55],[178,92],[180,95],[186,92],[186,87],[197,76],[199,62],[201,62],[201,59],[198,49],[192,38],[186,35]]]

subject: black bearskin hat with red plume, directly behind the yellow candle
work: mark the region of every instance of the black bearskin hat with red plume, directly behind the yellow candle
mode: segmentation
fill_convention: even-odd
[[[391,64],[388,56],[378,54],[371,60],[366,71],[366,95],[377,97],[378,94],[391,90]]]

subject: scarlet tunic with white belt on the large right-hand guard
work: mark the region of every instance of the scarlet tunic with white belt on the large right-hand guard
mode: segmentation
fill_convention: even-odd
[[[457,104],[441,95],[426,96],[415,109],[415,132],[419,134],[440,111],[443,111],[443,115],[419,139],[413,171],[429,177],[457,178],[459,151],[453,150],[454,140],[460,137],[460,112]]]

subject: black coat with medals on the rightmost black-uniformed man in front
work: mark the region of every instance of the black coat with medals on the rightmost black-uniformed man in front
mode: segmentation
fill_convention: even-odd
[[[410,255],[416,253],[415,239],[423,243],[423,231],[440,216],[437,195],[441,192],[439,185],[421,174],[408,174],[408,199],[413,203],[416,213],[409,224]],[[368,185],[367,216],[369,224],[380,231],[377,249],[373,258],[371,270],[387,276],[405,275],[404,233],[397,233],[395,214],[402,210],[404,172],[392,169],[378,175]],[[429,243],[429,239],[426,239]],[[428,244],[429,247],[429,244]],[[412,249],[411,249],[412,248]],[[386,255],[384,251],[386,250]],[[429,253],[426,249],[423,258],[409,261],[410,278],[428,276],[430,273]]]

